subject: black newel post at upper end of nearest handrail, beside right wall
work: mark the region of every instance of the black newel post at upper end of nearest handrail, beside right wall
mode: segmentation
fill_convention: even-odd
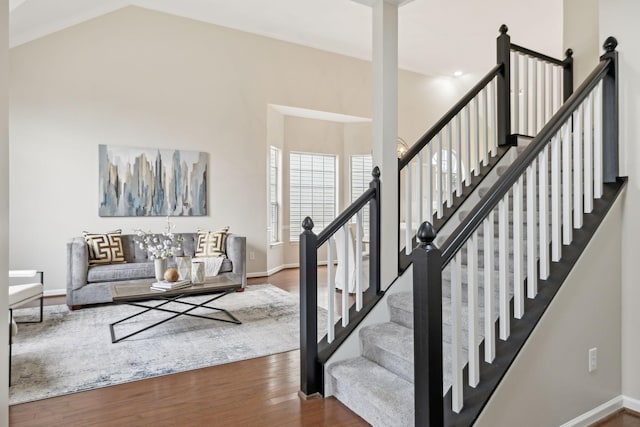
[[[602,166],[604,182],[616,182],[618,177],[618,41],[607,37],[605,53],[600,60],[610,58],[611,65],[602,79]]]

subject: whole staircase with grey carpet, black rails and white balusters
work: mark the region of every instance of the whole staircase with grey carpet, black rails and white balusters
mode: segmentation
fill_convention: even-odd
[[[381,290],[377,168],[370,189],[319,235],[310,218],[303,223],[301,391],[331,394],[374,426],[472,425],[625,186],[615,39],[572,93],[570,51],[555,60],[511,44],[506,32],[498,65],[400,160],[399,279],[408,275],[411,291],[395,283]],[[542,95],[527,77],[537,70]],[[547,84],[546,75],[555,79]],[[521,131],[535,136],[512,147]],[[517,155],[503,164],[509,153]],[[368,290],[358,273],[356,304],[348,307],[344,293],[335,318],[332,236],[353,219],[359,229],[366,206]],[[325,244],[328,333],[318,340],[317,253]],[[382,312],[387,321],[370,320]],[[354,348],[354,332],[359,354],[329,363],[338,349]]]

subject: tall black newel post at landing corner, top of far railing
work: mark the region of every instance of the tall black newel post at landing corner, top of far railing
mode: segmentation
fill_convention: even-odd
[[[502,64],[502,71],[498,74],[498,145],[511,143],[511,37],[507,34],[509,28],[500,26],[497,41],[498,64]]]

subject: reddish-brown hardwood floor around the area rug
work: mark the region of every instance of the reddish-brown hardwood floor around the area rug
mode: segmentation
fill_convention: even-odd
[[[326,281],[325,269],[318,281]],[[249,284],[267,282],[299,293],[297,269]],[[52,303],[61,301],[46,299]],[[368,425],[336,399],[300,398],[299,358],[291,351],[14,405],[9,422],[16,427]]]

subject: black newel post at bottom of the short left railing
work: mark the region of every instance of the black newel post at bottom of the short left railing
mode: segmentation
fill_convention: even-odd
[[[318,236],[306,217],[300,234],[300,391],[309,397],[323,393],[318,362]]]

